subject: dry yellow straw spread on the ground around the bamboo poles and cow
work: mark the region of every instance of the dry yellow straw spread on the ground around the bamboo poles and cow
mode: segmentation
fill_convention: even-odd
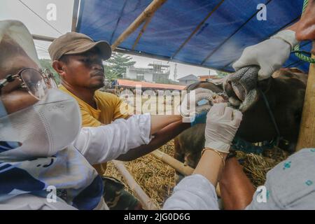
[[[159,150],[173,156],[174,141],[169,141]],[[272,167],[285,160],[287,157],[288,153],[279,148],[265,151],[263,155],[237,152],[237,158],[244,166],[244,172],[248,178],[251,179],[255,187],[263,185],[263,183],[265,183],[266,173],[269,169],[272,169]],[[160,160],[154,158],[153,155],[146,155],[132,162],[125,162],[125,166],[148,197],[151,197],[155,206],[161,208],[165,199],[172,195],[172,189],[175,186],[174,169],[160,162]],[[113,163],[109,162],[107,167],[106,176],[113,176],[125,183]],[[125,186],[127,190],[132,193],[126,183]]]

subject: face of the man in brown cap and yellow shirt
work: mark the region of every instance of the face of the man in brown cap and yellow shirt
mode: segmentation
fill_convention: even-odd
[[[62,80],[72,87],[97,90],[104,86],[104,66],[97,48],[83,54],[66,55]]]

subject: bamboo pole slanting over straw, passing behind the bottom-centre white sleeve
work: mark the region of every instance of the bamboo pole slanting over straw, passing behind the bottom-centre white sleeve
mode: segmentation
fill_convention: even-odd
[[[172,156],[167,155],[159,150],[155,150],[151,153],[155,158],[158,158],[162,162],[165,162],[167,165],[173,167],[177,172],[183,174],[184,176],[189,176],[193,174],[194,169],[187,165],[184,165],[183,162],[172,158]],[[218,197],[221,197],[220,185],[219,183],[216,185],[216,194]]]

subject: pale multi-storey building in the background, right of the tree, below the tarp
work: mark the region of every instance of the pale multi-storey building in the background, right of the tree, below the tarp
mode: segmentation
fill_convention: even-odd
[[[124,78],[162,83],[169,80],[170,66],[162,62],[148,64],[148,67],[128,66]]]

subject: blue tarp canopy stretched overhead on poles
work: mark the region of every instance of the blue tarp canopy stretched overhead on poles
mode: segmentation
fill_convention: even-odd
[[[233,71],[232,63],[249,45],[264,41],[299,20],[303,0],[168,0],[159,8],[139,43],[132,46],[141,25],[120,49],[144,56],[168,59],[221,71]],[[151,0],[83,0],[76,31],[114,43]],[[220,6],[218,6],[221,3]],[[258,20],[258,5],[265,3],[267,20]],[[218,6],[218,7],[217,7]],[[204,18],[202,27],[179,50]],[[311,42],[301,44],[311,50]],[[308,71],[309,64],[291,54],[284,64]]]

